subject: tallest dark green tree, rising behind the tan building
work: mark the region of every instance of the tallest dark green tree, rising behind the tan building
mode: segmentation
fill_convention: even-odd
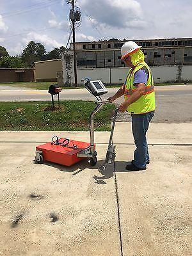
[[[45,53],[44,45],[31,41],[22,51],[21,58],[28,67],[34,67],[35,61],[45,60]]]

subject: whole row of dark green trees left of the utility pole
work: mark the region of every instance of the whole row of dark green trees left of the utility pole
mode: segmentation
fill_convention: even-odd
[[[29,42],[22,53],[17,56],[10,56],[6,48],[0,45],[0,68],[24,68],[34,67],[35,61],[55,60],[61,58],[61,52],[65,47],[54,48],[46,52],[44,45],[34,41]]]

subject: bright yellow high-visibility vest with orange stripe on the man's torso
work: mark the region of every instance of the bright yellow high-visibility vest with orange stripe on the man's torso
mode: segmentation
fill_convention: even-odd
[[[141,68],[147,68],[148,70],[148,80],[145,87],[145,92],[140,97],[140,99],[133,102],[128,106],[127,111],[132,114],[143,114],[154,111],[156,108],[156,99],[154,92],[154,79],[152,77],[152,73],[150,71],[150,67],[148,67],[145,61],[140,62],[136,67],[130,68],[126,83],[125,83],[125,92],[124,97],[125,100],[129,99],[132,93],[136,90],[136,86],[134,86],[134,74],[140,70]]]

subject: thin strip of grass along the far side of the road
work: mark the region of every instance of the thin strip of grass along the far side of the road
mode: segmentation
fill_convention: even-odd
[[[49,86],[51,84],[56,84],[56,82],[22,82],[22,83],[0,83],[0,86],[12,86],[12,87],[22,87],[22,88],[31,88],[31,89],[38,89],[38,90],[48,90]],[[155,84],[155,86],[159,85],[174,85],[174,84],[184,84],[184,83],[164,83],[164,84]],[[113,87],[120,87],[121,85],[107,85],[108,88]],[[84,88],[84,86],[78,86],[78,87],[63,87],[63,89],[78,89],[78,88]]]

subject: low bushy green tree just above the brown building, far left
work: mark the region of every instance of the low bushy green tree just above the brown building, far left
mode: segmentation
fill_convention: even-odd
[[[25,64],[22,62],[21,58],[18,56],[4,56],[0,61],[1,68],[23,68]]]

